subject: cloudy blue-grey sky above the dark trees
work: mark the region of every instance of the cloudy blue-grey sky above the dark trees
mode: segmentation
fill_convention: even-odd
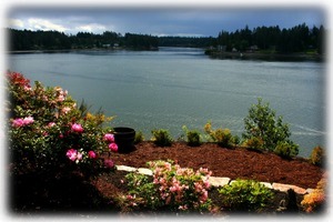
[[[9,28],[103,33],[115,31],[153,36],[216,37],[221,30],[235,31],[246,24],[291,28],[305,22],[310,28],[326,22],[322,8],[12,8]]]

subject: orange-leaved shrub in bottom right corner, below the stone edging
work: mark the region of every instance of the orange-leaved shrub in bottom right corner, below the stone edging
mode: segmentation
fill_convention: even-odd
[[[307,213],[314,213],[322,210],[325,200],[325,189],[327,185],[327,179],[323,178],[319,181],[316,188],[311,192],[304,195],[304,199],[301,202],[302,208]]]

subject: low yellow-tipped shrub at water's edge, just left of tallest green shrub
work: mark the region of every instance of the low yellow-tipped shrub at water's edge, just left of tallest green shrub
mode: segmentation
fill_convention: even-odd
[[[204,131],[209,134],[213,142],[216,142],[221,148],[232,148],[234,145],[234,138],[232,137],[229,129],[216,129],[212,130],[211,122],[204,125]]]

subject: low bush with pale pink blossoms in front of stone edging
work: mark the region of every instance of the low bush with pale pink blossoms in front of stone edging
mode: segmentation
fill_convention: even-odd
[[[181,168],[172,161],[153,161],[148,163],[153,171],[152,181],[148,175],[130,173],[127,175],[129,194],[122,196],[130,208],[162,209],[173,211],[212,211],[208,196],[211,171],[193,171]]]

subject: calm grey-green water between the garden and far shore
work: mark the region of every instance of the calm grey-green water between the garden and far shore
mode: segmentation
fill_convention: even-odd
[[[325,145],[325,64],[214,60],[200,49],[77,51],[9,54],[8,68],[31,81],[60,85],[80,102],[115,115],[112,127],[132,127],[151,138],[168,129],[229,128],[241,135],[243,119],[261,97],[290,123],[300,155]]]

